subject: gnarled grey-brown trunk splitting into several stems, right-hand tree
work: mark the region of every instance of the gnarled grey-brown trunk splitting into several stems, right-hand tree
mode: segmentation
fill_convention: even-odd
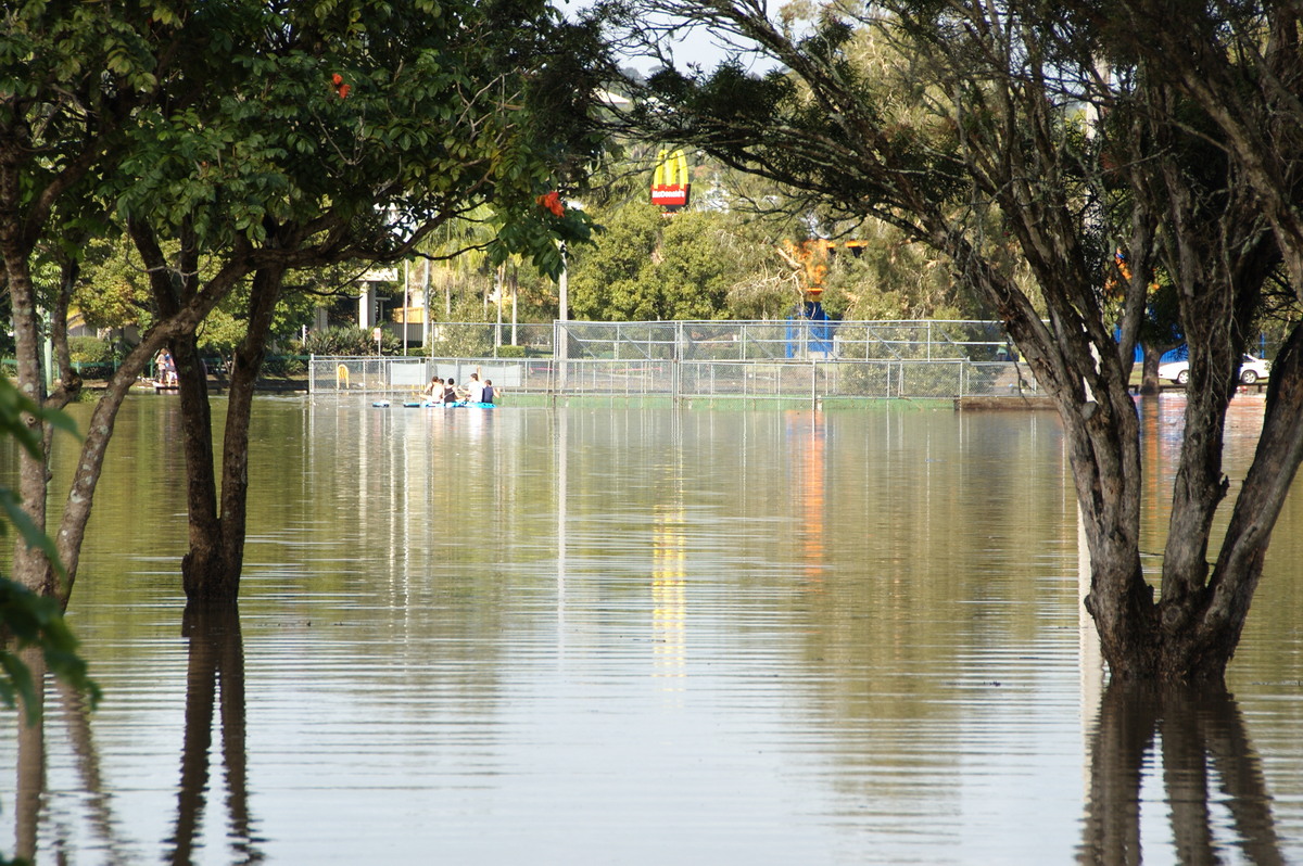
[[[982,263],[960,236],[936,234],[946,240],[956,262],[967,263],[964,276],[993,301],[1037,380],[1058,402],[1091,548],[1092,586],[1085,604],[1113,676],[1221,681],[1252,600],[1270,526],[1283,503],[1283,492],[1278,499],[1255,496],[1246,483],[1239,497],[1246,509],[1243,550],[1224,550],[1217,560],[1221,577],[1209,581],[1213,517],[1227,491],[1221,471],[1226,408],[1276,250],[1255,219],[1250,193],[1233,194],[1222,210],[1210,211],[1190,194],[1183,176],[1169,168],[1161,181],[1171,194],[1170,223],[1177,225],[1182,245],[1179,267],[1169,267],[1183,289],[1191,384],[1158,599],[1140,560],[1143,483],[1136,409],[1127,385],[1130,358],[1114,350],[1102,314],[1092,309],[1091,285],[1072,264],[1080,250],[1072,246],[1071,233],[1049,230],[1053,220],[1035,206],[1024,207],[1027,214],[1019,216],[1025,219],[1014,221],[1023,249],[1038,253],[1031,257],[1038,283],[1058,289],[1046,293],[1048,322],[1006,273]],[[1028,201],[1035,199],[1028,195]],[[1010,201],[1006,210],[1014,212],[1016,203]],[[937,216],[938,224],[942,219]],[[1286,363],[1273,370],[1281,395],[1274,412],[1282,421],[1274,439],[1264,435],[1255,461],[1255,466],[1264,466],[1264,484],[1282,475],[1287,483],[1298,465],[1296,440],[1303,434],[1294,431],[1303,428],[1296,423],[1303,417],[1303,397],[1295,402],[1293,395],[1303,383],[1298,383],[1296,366],[1287,354]],[[1217,587],[1218,581],[1224,589]]]

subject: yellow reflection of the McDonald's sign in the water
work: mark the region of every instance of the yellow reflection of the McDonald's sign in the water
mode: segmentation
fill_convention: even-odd
[[[687,521],[683,508],[658,505],[652,526],[652,637],[655,676],[681,678],[687,663]],[[679,690],[676,686],[674,690]]]

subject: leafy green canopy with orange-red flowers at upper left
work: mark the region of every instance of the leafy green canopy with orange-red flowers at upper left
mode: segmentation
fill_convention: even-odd
[[[589,225],[538,202],[577,184],[598,151],[589,109],[602,64],[595,30],[542,0],[4,7],[0,254],[20,388],[44,396],[42,309],[53,311],[61,372],[51,398],[79,387],[69,294],[81,251],[108,221],[136,242],[155,302],[76,464],[55,534],[69,574],[126,388],[241,280],[254,277],[241,367],[253,369],[285,273],[399,260],[485,204],[496,259],[520,251],[559,271],[558,240],[582,240]],[[60,267],[52,303],[33,280],[42,255]],[[38,526],[47,460],[21,466]],[[53,591],[42,557],[16,559],[25,585]]]

